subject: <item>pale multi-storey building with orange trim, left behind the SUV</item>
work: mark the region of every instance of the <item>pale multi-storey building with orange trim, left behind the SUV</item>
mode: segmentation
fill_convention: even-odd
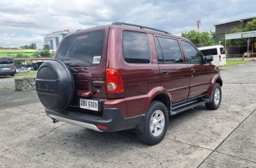
[[[50,45],[50,50],[56,51],[59,43],[61,42],[62,38],[69,33],[69,29],[64,31],[55,31],[50,34],[45,35],[45,45]]]

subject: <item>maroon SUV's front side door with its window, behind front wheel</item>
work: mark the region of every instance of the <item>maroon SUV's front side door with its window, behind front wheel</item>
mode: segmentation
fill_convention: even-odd
[[[192,45],[182,40],[183,50],[187,57],[187,66],[190,69],[190,94],[188,98],[204,95],[211,84],[211,75],[208,75],[208,64],[204,64],[204,56]]]

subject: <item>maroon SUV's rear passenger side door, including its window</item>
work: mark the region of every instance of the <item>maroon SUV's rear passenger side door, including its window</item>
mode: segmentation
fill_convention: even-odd
[[[171,94],[172,101],[186,100],[190,91],[190,69],[184,62],[180,44],[175,38],[155,37],[161,86]]]

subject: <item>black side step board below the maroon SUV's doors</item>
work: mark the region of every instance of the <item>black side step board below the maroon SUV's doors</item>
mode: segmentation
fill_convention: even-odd
[[[200,99],[197,99],[197,100],[191,100],[191,101],[186,102],[182,105],[177,105],[177,106],[174,105],[174,107],[171,107],[171,109],[169,111],[169,114],[170,114],[170,116],[173,116],[173,115],[176,115],[180,112],[184,112],[187,109],[192,109],[193,107],[196,107],[197,105],[200,105],[200,104],[205,103],[205,102],[209,102],[209,100],[205,99],[205,98],[200,98]]]

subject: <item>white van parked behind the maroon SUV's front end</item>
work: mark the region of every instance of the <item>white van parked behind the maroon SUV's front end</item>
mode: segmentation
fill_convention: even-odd
[[[223,45],[212,45],[207,47],[198,48],[204,56],[212,55],[213,56],[213,65],[215,66],[224,66],[226,65],[226,54]]]

